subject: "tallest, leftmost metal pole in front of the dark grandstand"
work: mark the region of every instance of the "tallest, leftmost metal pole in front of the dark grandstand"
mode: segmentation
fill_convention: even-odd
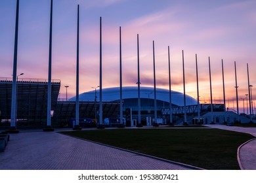
[[[17,76],[17,53],[18,53],[18,10],[19,0],[16,4],[16,24],[14,38],[14,58],[12,72],[12,106],[11,106],[11,127],[16,128],[16,76]]]

